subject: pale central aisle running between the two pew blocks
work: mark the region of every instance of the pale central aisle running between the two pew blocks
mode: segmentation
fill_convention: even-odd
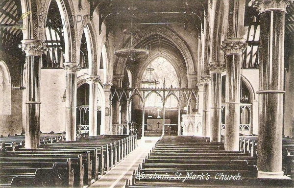
[[[159,137],[145,137],[137,140],[137,148],[127,158],[103,175],[90,188],[123,188],[125,180],[131,180],[133,171],[142,164],[143,159],[158,141]]]

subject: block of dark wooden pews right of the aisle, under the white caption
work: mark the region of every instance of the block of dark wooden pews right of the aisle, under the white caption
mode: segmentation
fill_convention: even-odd
[[[193,136],[164,136],[125,187],[294,187],[291,179],[257,179],[256,164],[256,157],[242,151],[225,151],[221,142]]]

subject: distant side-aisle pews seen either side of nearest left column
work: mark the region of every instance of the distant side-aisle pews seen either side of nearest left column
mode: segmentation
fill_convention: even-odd
[[[65,141],[65,132],[63,133],[40,133],[40,147],[44,147],[45,143],[54,143],[58,141]],[[0,149],[6,151],[14,151],[18,148],[25,148],[25,135],[14,136],[8,135],[7,137],[0,137]]]

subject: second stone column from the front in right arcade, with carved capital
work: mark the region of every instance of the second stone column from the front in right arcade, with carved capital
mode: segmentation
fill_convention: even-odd
[[[240,89],[242,52],[247,47],[245,39],[230,38],[222,41],[225,53],[225,136],[226,151],[239,151]]]

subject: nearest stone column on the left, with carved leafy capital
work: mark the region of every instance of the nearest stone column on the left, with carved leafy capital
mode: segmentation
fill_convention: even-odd
[[[40,71],[41,57],[48,50],[46,44],[38,40],[23,40],[19,45],[26,54],[26,122],[25,148],[39,148],[40,137]]]

